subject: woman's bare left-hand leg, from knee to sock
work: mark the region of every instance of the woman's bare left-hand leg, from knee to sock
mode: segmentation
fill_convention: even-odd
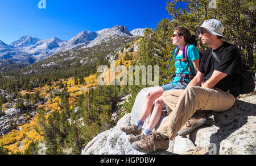
[[[148,115],[151,113],[153,102],[155,99],[161,97],[163,92],[164,89],[160,87],[147,94],[146,101],[142,107],[141,115],[139,116],[139,120],[144,122],[147,119]]]

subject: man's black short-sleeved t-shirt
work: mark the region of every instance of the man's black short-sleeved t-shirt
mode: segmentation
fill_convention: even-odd
[[[221,47],[213,50],[220,57],[220,63],[214,59],[212,48],[208,48],[204,52],[201,59],[199,71],[204,74],[204,80],[207,81],[212,76],[214,70],[228,74],[225,78],[219,81],[214,88],[219,88],[225,92],[233,94],[234,97],[240,95],[240,80],[238,71],[241,65],[241,55],[236,45],[226,43]]]

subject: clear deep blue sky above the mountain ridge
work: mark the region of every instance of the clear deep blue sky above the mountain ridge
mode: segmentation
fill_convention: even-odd
[[[69,40],[82,30],[97,31],[115,25],[155,28],[167,18],[167,0],[0,0],[0,40],[10,44],[22,36],[54,36]]]

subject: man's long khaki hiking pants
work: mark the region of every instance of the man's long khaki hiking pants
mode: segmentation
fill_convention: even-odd
[[[157,131],[167,135],[170,140],[176,137],[180,128],[197,110],[225,111],[236,101],[228,92],[200,86],[188,86],[185,90],[167,90],[162,97],[172,113],[164,119]]]

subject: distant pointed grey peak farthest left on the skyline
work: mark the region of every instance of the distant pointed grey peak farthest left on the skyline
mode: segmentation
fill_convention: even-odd
[[[11,43],[10,45],[13,47],[27,47],[29,45],[34,45],[36,44],[40,39],[38,38],[32,38],[30,35],[23,36],[19,40]]]

